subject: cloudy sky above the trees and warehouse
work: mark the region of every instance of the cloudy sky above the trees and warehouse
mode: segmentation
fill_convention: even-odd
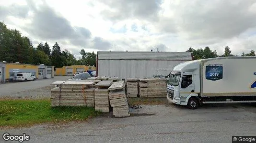
[[[256,51],[256,0],[0,0],[0,20],[35,46],[79,51]]]

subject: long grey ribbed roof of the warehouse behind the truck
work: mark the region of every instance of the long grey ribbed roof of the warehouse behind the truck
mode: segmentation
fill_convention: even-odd
[[[192,60],[191,52],[98,51],[98,60]]]

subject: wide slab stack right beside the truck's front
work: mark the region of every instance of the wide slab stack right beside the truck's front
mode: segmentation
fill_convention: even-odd
[[[166,78],[149,78],[139,80],[141,98],[166,97]]]

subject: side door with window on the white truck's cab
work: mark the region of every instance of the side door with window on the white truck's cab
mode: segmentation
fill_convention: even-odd
[[[180,97],[186,98],[192,92],[195,92],[194,78],[192,74],[184,74],[181,80]]]

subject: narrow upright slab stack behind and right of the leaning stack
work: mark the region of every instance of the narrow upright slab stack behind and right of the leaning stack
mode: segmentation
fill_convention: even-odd
[[[138,82],[136,78],[127,78],[127,96],[138,96]]]

